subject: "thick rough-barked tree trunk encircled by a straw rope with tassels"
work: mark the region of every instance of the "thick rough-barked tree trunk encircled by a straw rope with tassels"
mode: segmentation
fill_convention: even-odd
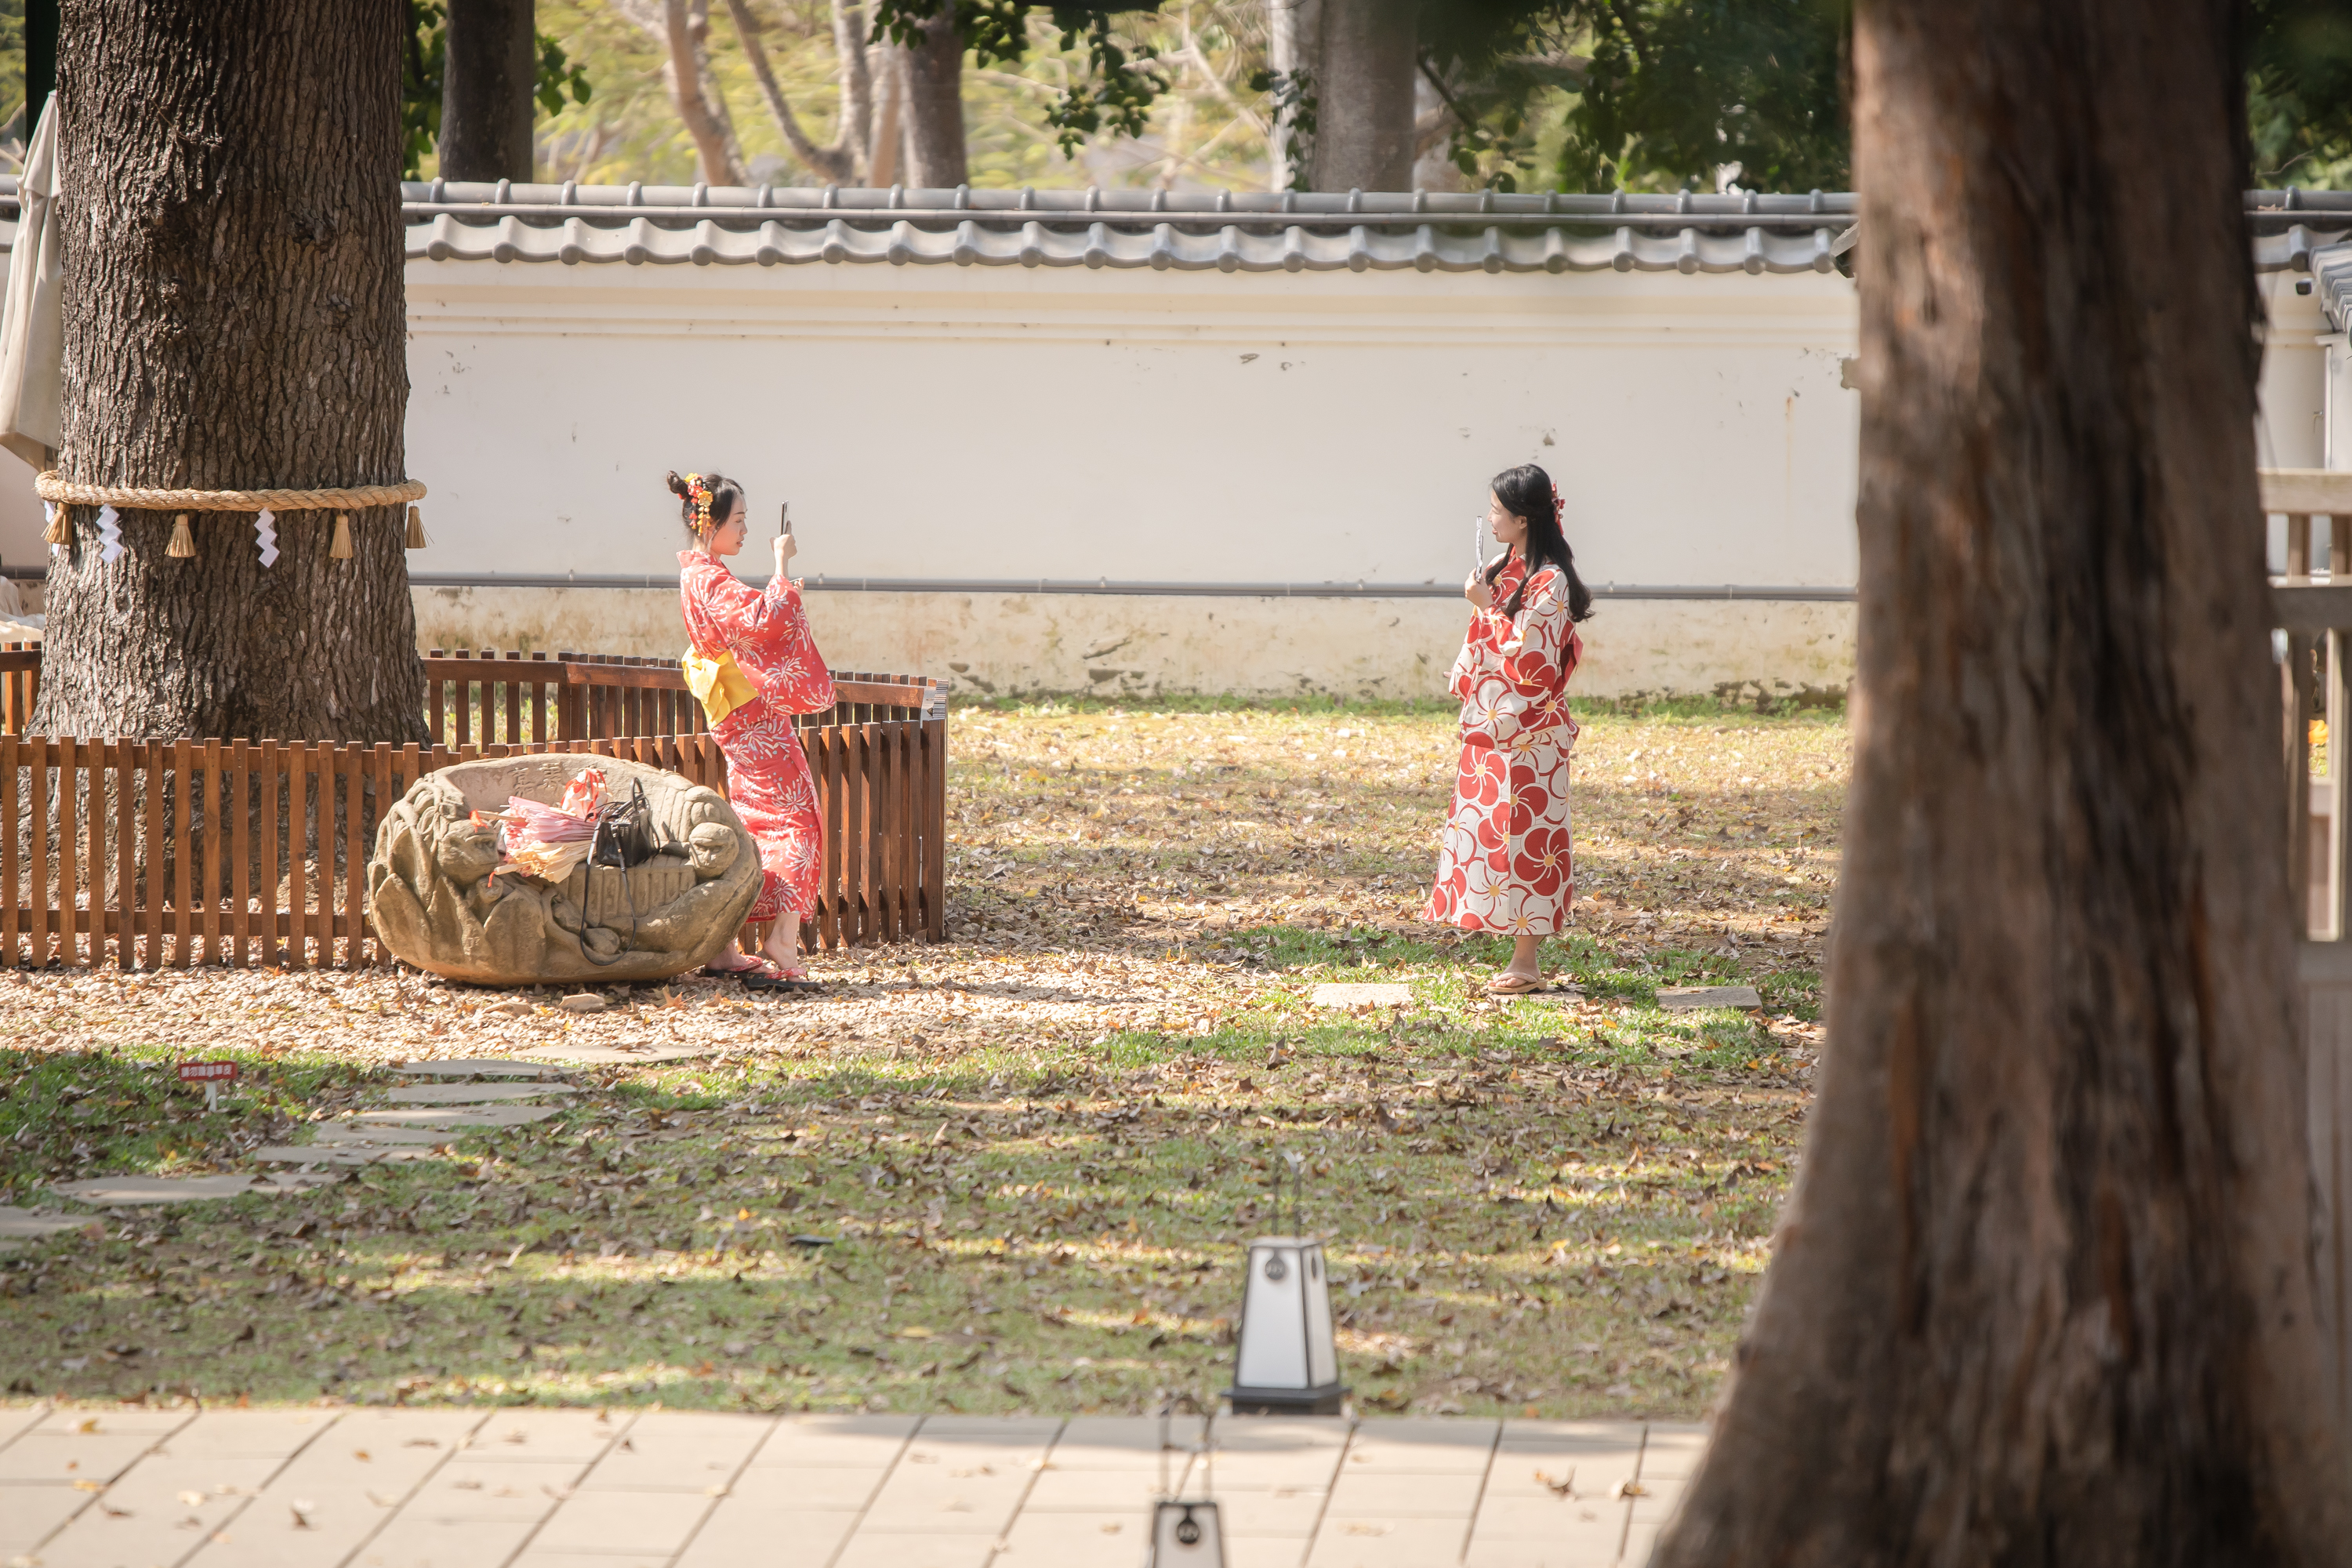
[[[71,0],[64,16],[66,480],[261,489],[402,477],[400,0]],[[71,508],[35,729],[414,741],[400,508],[278,520]]]

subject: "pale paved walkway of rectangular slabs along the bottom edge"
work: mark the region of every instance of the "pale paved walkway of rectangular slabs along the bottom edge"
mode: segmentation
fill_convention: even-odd
[[[1225,1418],[1207,1483],[1237,1568],[1613,1568],[1649,1556],[1700,1441]],[[1141,1418],[16,1406],[0,1566],[1124,1568],[1157,1486]]]

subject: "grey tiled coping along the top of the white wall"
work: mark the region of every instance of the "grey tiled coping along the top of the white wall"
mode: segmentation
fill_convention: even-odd
[[[1221,273],[1828,273],[1856,197],[844,190],[405,181],[412,261],[889,261]],[[16,181],[0,176],[0,212]],[[2249,190],[2256,268],[2312,270],[2352,193]],[[0,221],[0,249],[14,223]],[[2352,289],[2352,282],[2345,284]],[[2340,306],[2331,306],[2340,320]]]

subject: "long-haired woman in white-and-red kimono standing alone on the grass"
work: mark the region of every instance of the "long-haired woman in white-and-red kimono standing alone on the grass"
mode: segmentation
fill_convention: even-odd
[[[1559,531],[1559,491],[1534,463],[1494,477],[1486,527],[1508,552],[1463,583],[1472,604],[1454,661],[1463,755],[1423,919],[1510,933],[1510,966],[1486,990],[1519,997],[1543,990],[1543,938],[1569,929],[1576,903],[1566,686],[1592,592]]]

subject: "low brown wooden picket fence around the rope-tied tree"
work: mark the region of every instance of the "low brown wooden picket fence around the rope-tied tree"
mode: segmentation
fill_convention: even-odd
[[[38,644],[0,649],[0,966],[381,964],[376,813],[456,762],[623,757],[727,788],[675,661],[435,651],[440,745],[31,736],[38,682]],[[903,675],[837,675],[835,689],[835,708],[797,719],[826,818],[809,936],[828,952],[938,940],[946,698]]]

